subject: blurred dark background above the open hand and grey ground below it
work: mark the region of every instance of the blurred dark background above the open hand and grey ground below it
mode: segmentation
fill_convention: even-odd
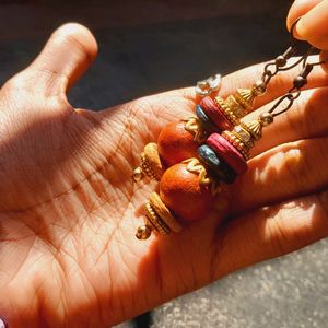
[[[288,0],[1,1],[0,83],[51,31],[80,22],[99,55],[72,89],[74,106],[104,108],[229,73],[285,49]],[[236,272],[120,327],[328,327],[328,243]]]

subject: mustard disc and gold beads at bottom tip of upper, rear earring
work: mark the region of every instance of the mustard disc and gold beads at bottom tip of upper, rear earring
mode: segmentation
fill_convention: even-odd
[[[148,143],[141,153],[141,163],[133,171],[133,180],[140,181],[145,175],[151,179],[160,180],[163,175],[163,166],[157,151],[157,144]]]

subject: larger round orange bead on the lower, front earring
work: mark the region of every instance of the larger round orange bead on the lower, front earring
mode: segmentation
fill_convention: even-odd
[[[165,171],[160,183],[160,196],[179,219],[202,220],[212,210],[213,196],[208,186],[199,185],[198,174],[186,167],[186,164],[176,164]]]

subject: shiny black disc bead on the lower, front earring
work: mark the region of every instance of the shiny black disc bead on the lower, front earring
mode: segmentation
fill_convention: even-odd
[[[199,160],[207,166],[210,175],[219,177],[223,183],[233,184],[237,174],[207,144],[198,148]]]

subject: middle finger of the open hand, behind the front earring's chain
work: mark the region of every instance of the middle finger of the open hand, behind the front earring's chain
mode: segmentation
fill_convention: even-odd
[[[254,117],[268,112],[273,104],[260,108]],[[251,150],[251,156],[282,143],[327,134],[327,106],[328,87],[304,91],[291,109],[277,116],[273,124],[263,129],[263,138]]]

